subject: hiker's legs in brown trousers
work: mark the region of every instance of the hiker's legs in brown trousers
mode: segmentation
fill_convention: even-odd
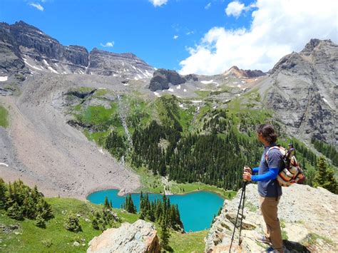
[[[267,230],[270,235],[272,247],[279,252],[282,252],[282,231],[280,229],[280,220],[277,217],[277,205],[279,200],[275,197],[262,197],[260,205],[263,218],[267,224]]]

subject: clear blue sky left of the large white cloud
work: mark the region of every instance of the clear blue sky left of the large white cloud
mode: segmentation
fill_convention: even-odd
[[[43,11],[31,3],[40,4]],[[186,47],[198,43],[212,26],[247,26],[250,17],[227,17],[226,6],[227,1],[203,0],[168,1],[156,7],[148,0],[1,0],[0,21],[23,20],[63,45],[132,52],[157,68],[179,69],[179,62],[189,56]],[[111,41],[113,47],[100,45]]]

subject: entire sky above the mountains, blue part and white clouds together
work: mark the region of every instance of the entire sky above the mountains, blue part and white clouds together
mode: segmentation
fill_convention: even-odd
[[[337,43],[337,2],[1,0],[0,21],[23,20],[63,45],[132,52],[156,68],[214,74],[232,65],[267,71],[310,38]]]

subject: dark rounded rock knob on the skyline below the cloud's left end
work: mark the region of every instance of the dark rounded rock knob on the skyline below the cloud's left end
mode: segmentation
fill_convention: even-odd
[[[193,76],[189,76],[193,78]],[[150,91],[168,90],[169,86],[177,86],[185,83],[185,78],[181,77],[176,71],[160,68],[154,72],[150,80]]]

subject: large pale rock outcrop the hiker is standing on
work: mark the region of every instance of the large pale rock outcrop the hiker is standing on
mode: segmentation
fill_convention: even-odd
[[[225,200],[222,212],[216,217],[206,238],[205,252],[229,251],[240,195],[241,190],[234,200]],[[255,241],[255,237],[263,234],[265,226],[258,203],[257,185],[247,185],[242,244],[238,246],[240,229],[236,229],[232,252],[263,252],[267,248],[267,245]],[[278,217],[285,237],[285,252],[292,249],[299,252],[337,252],[337,206],[338,195],[324,188],[308,185],[283,187]]]

